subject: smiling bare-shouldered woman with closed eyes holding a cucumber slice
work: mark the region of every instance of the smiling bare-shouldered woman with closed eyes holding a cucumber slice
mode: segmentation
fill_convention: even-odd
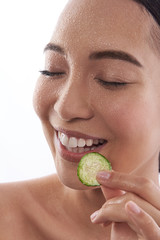
[[[1,185],[1,239],[160,239],[159,7],[68,2],[34,94],[57,175]],[[99,188],[78,180],[86,152],[112,164]]]

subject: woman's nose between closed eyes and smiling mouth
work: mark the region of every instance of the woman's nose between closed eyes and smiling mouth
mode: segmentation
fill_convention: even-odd
[[[71,121],[93,117],[89,88],[83,84],[72,81],[62,87],[54,104],[54,110],[62,120]]]

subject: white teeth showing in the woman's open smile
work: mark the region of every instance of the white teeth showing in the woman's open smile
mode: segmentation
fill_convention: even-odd
[[[66,134],[58,132],[58,138],[62,145],[64,145],[68,151],[74,153],[83,153],[87,151],[93,151],[99,145],[102,145],[104,139],[83,139],[76,137],[68,137]]]

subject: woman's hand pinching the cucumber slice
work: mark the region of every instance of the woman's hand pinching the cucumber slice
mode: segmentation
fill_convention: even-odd
[[[160,239],[160,188],[154,182],[114,171],[98,173],[97,180],[106,199],[108,188],[125,192],[107,200],[91,216],[93,223],[104,226],[111,222],[127,223],[137,234],[137,239]]]

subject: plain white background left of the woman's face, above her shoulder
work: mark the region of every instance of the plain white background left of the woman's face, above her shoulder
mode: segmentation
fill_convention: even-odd
[[[0,1],[0,182],[55,172],[32,107],[43,48],[67,0]]]

